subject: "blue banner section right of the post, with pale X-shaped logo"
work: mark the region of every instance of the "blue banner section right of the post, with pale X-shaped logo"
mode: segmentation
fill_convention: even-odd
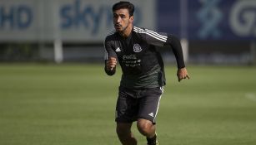
[[[189,39],[256,39],[255,0],[188,1]]]

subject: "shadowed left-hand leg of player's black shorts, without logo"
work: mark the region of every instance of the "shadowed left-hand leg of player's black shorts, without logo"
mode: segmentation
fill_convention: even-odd
[[[138,114],[138,99],[134,98],[133,92],[119,87],[118,101],[116,105],[117,123],[133,123]]]

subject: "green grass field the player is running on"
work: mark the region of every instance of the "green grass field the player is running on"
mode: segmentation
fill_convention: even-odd
[[[121,76],[103,65],[0,64],[1,145],[118,145]],[[256,67],[166,66],[158,112],[161,145],[255,145]],[[138,145],[145,145],[133,125]]]

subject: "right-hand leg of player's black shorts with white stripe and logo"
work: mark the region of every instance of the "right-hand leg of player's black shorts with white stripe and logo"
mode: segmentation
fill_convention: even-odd
[[[163,89],[159,87],[143,92],[143,97],[139,99],[138,118],[144,118],[155,123],[162,94]]]

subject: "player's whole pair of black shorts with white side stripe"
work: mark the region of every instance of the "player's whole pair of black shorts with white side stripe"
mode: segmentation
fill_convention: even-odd
[[[144,118],[155,123],[162,94],[163,87],[133,90],[120,86],[116,122],[132,123]]]

